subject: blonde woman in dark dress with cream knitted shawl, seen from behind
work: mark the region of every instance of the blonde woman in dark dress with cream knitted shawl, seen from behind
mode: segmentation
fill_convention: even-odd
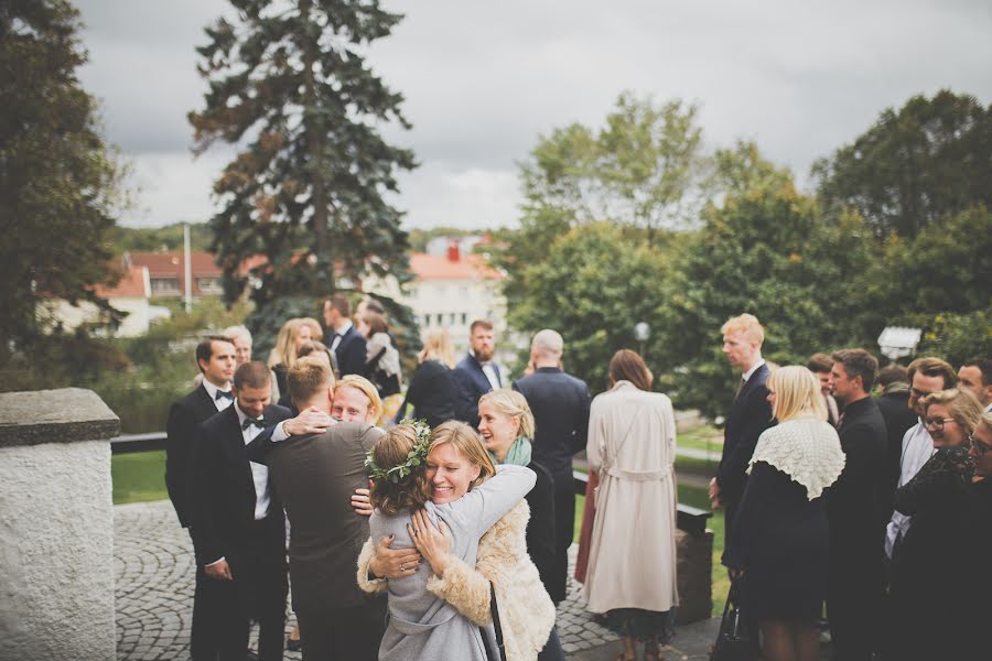
[[[768,377],[768,401],[778,424],[758,438],[751,477],[724,555],[743,577],[745,607],[764,637],[769,661],[819,658],[816,620],[827,593],[829,528],[823,489],[844,468],[837,431],[817,378],[805,367]]]

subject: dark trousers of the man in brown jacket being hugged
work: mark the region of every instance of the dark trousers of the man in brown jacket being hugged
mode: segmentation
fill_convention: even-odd
[[[296,621],[303,661],[376,661],[386,632],[386,597],[346,608],[300,608]]]

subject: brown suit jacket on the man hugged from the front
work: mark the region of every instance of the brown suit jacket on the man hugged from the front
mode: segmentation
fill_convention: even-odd
[[[368,539],[368,518],[352,510],[351,498],[367,487],[365,455],[382,431],[343,422],[323,434],[291,436],[266,449],[270,478],[290,521],[290,578],[293,609],[321,617],[368,604],[355,566]]]

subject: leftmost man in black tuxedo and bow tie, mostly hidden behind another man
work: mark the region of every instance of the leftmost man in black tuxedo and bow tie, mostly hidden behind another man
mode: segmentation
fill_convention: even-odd
[[[193,392],[172,404],[165,425],[165,486],[175,508],[175,516],[183,528],[193,521],[190,511],[190,489],[192,475],[190,457],[193,454],[193,435],[200,423],[227,409],[234,402],[230,379],[234,377],[236,349],[230,339],[222,335],[209,335],[196,345],[196,364],[203,380]],[[191,531],[192,537],[192,531]],[[214,628],[208,613],[204,611],[202,594],[202,572],[196,575],[196,592],[193,597],[193,624],[190,647],[194,659],[216,655],[216,640],[211,636]]]

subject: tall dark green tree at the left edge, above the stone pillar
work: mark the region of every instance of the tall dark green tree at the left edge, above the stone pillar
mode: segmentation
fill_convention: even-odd
[[[90,301],[112,281],[108,232],[126,203],[121,167],[100,136],[79,13],[62,0],[14,0],[0,11],[0,364],[32,354],[42,297]]]

